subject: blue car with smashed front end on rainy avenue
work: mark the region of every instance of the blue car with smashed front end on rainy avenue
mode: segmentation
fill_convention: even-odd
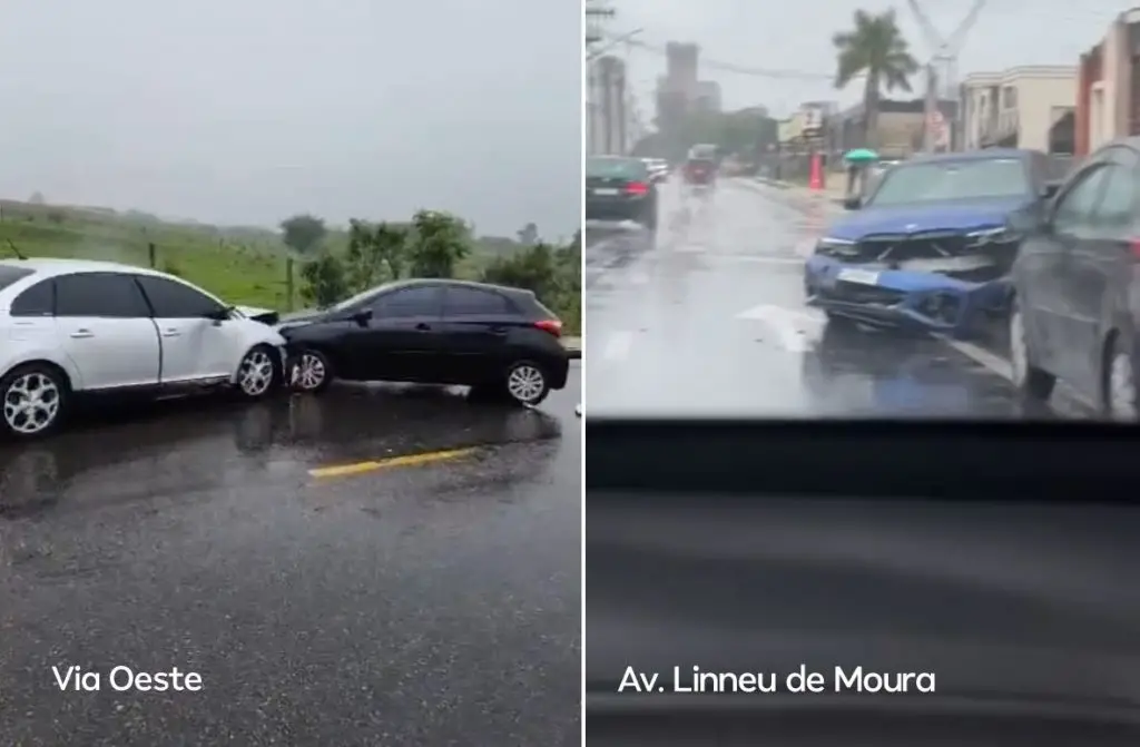
[[[1057,184],[1045,156],[987,149],[923,156],[883,172],[808,259],[808,305],[831,318],[964,336],[1004,314],[1009,273]]]

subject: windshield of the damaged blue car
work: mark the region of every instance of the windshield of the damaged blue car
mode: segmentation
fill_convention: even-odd
[[[879,208],[943,200],[1016,197],[1029,194],[1018,159],[971,159],[898,164],[882,176],[868,202]]]

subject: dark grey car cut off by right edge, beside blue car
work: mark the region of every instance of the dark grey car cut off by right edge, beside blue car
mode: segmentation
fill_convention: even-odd
[[[1140,138],[1102,147],[1028,227],[1013,265],[1013,383],[1047,400],[1064,380],[1107,416],[1135,421],[1140,332]]]

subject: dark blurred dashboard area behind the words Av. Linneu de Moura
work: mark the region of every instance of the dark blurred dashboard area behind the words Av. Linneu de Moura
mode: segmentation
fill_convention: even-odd
[[[1140,744],[1134,427],[589,419],[586,450],[587,744]]]

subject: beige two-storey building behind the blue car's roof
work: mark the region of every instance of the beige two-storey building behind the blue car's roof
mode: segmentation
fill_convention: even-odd
[[[1074,152],[1077,68],[1025,65],[971,73],[961,84],[961,148]]]

